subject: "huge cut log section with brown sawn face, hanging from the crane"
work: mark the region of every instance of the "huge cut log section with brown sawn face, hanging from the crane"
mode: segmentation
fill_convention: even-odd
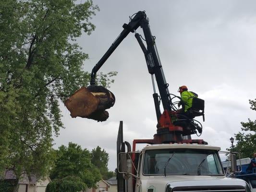
[[[64,104],[72,118],[82,117],[105,121],[109,113],[105,109],[115,103],[115,96],[102,86],[81,87]]]

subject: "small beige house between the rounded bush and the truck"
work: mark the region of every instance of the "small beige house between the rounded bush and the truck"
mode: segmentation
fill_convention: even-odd
[[[100,180],[97,183],[97,189],[89,188],[85,192],[117,192],[117,179],[112,177],[109,180]]]

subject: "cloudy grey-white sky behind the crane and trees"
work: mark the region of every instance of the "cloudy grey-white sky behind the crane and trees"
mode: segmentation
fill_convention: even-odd
[[[83,0],[82,0],[83,2]],[[256,1],[255,0],[94,0],[100,8],[91,22],[96,30],[77,39],[89,55],[85,71],[94,65],[129,23],[129,16],[146,11],[169,91],[181,85],[205,100],[205,122],[200,137],[208,144],[231,146],[241,131],[241,121],[256,119],[249,99],[256,98]],[[143,35],[141,29],[137,32]],[[61,104],[65,129],[55,138],[55,148],[73,142],[109,154],[109,170],[116,168],[116,140],[120,120],[124,140],[152,139],[156,113],[151,76],[134,34],[129,34],[99,72],[117,71],[110,91],[116,97],[107,121],[71,118]],[[236,141],[234,142],[234,144]]]

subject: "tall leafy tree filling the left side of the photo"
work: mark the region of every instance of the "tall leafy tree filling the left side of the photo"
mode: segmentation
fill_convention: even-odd
[[[24,173],[41,177],[52,166],[59,101],[90,78],[75,38],[95,29],[98,10],[91,0],[0,1],[0,168],[15,172],[16,186]],[[112,75],[98,82],[108,86]]]

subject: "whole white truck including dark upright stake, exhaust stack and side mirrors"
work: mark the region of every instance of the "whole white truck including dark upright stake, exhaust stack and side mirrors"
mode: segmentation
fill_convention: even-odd
[[[202,140],[158,143],[158,137],[123,142],[122,121],[117,139],[118,192],[251,192],[246,181],[228,178],[220,147]],[[136,150],[136,144],[146,144]],[[158,144],[157,144],[158,143]],[[231,155],[232,171],[236,171]]]

